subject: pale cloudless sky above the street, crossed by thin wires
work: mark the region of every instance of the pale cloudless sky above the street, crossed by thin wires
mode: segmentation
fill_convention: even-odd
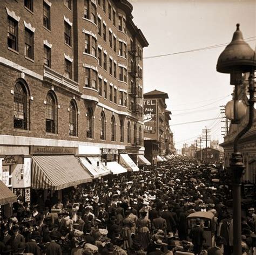
[[[129,0],[133,21],[149,46],[144,48],[144,93],[158,89],[169,94],[170,127],[176,148],[194,143],[202,130],[211,129],[211,139],[223,142],[221,105],[232,100],[230,75],[216,71],[225,46],[149,58],[232,40],[236,24],[255,49],[256,0]],[[182,124],[182,125],[181,125]],[[205,145],[202,144],[202,146]]]

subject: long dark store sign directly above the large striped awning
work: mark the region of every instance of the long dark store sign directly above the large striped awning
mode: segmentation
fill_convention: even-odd
[[[30,146],[30,154],[47,155],[47,154],[76,154],[77,148],[75,147],[48,147],[48,146]]]

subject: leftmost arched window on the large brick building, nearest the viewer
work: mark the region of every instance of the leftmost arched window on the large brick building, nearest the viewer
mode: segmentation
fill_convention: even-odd
[[[14,87],[14,128],[28,129],[28,92],[17,82]]]

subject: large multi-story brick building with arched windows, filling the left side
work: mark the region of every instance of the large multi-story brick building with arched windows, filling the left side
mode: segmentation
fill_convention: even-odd
[[[30,175],[35,162],[35,181],[36,154],[143,154],[149,44],[131,12],[126,0],[0,2],[0,169],[10,186],[18,164]]]

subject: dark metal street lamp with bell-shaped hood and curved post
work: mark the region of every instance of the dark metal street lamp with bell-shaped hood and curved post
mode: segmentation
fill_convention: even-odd
[[[234,100],[232,102],[232,123],[240,123],[241,102],[238,100],[238,86],[242,85],[242,74],[250,72],[249,77],[249,118],[248,123],[234,139],[234,152],[230,158],[229,170],[233,173],[233,242],[234,255],[241,255],[241,182],[245,166],[242,162],[242,154],[238,152],[239,139],[252,127],[254,119],[254,70],[256,69],[255,52],[242,38],[242,33],[237,24],[232,41],[220,54],[217,63],[217,72],[229,73],[230,84],[234,85]],[[240,105],[240,106],[239,106]],[[240,112],[240,113],[239,113]]]

